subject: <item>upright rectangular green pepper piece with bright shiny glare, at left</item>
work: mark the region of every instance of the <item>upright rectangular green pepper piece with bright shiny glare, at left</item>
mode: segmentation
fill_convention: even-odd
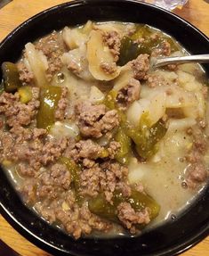
[[[55,121],[54,114],[60,100],[61,87],[45,86],[41,90],[37,112],[37,128],[49,129]]]

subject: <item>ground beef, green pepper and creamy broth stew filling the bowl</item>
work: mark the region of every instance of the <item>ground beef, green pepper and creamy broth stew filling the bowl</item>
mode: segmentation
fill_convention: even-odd
[[[1,162],[23,202],[76,239],[178,218],[208,179],[208,79],[150,63],[186,54],[147,25],[88,21],[4,62]]]

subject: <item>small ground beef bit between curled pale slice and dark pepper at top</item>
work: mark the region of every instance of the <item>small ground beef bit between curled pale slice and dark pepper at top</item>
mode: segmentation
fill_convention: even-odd
[[[109,46],[110,52],[113,54],[115,62],[117,62],[121,46],[120,35],[117,33],[117,31],[113,30],[103,32],[102,37],[104,44]]]

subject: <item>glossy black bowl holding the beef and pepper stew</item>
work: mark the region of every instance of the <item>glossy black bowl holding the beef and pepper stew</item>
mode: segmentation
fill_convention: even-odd
[[[147,23],[175,37],[190,54],[208,54],[209,39],[171,12],[137,1],[84,0],[60,4],[41,12],[15,29],[0,45],[0,63],[15,62],[24,45],[66,25],[92,21]],[[205,65],[209,74],[209,65]],[[1,78],[1,74],[0,74]],[[208,235],[209,187],[178,219],[134,238],[79,239],[49,226],[21,201],[0,169],[0,211],[29,241],[55,255],[175,255]]]

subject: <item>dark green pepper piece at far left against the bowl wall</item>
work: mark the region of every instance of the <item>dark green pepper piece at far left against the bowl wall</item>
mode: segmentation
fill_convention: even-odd
[[[4,91],[15,93],[21,86],[17,65],[12,62],[3,62],[2,64]]]

